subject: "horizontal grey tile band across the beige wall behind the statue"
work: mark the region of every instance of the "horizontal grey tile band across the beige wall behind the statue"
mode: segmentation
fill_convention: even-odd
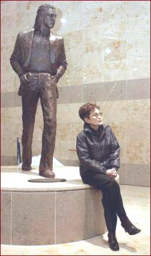
[[[150,79],[121,80],[82,84],[79,86],[60,86],[58,104],[80,103],[86,101],[116,101],[150,98]],[[39,101],[40,104],[40,101]],[[21,97],[17,92],[2,92],[1,107],[21,107]]]

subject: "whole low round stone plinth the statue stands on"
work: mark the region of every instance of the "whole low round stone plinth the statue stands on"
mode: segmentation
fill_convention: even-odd
[[[106,231],[102,192],[83,184],[78,167],[54,168],[54,172],[67,181],[31,183],[28,179],[40,177],[38,170],[16,173],[12,166],[2,168],[1,243],[51,245]]]

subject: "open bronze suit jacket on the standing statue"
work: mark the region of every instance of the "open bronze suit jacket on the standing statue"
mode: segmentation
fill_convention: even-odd
[[[12,52],[10,63],[13,70],[18,74],[18,76],[24,74],[24,70],[30,63],[31,49],[32,49],[32,39],[33,32],[35,29],[30,31],[19,32],[14,51]],[[51,35],[49,36],[50,45],[50,63],[52,65],[53,74],[58,75],[60,78],[68,65],[66,62],[64,39],[62,36]],[[22,95],[21,85],[19,87],[18,95]]]

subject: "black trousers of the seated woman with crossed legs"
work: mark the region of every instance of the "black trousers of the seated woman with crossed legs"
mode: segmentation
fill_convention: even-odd
[[[85,184],[89,184],[96,189],[102,190],[102,204],[107,229],[108,231],[115,231],[117,215],[119,218],[122,218],[123,214],[126,214],[118,182],[107,174],[93,171],[88,171],[85,178],[82,178],[82,180]]]

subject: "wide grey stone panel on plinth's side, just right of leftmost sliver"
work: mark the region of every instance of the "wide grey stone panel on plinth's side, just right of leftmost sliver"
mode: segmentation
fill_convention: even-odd
[[[45,193],[47,204],[43,197],[41,193],[33,193],[32,197],[30,193],[12,193],[12,244],[54,243],[54,193]]]

